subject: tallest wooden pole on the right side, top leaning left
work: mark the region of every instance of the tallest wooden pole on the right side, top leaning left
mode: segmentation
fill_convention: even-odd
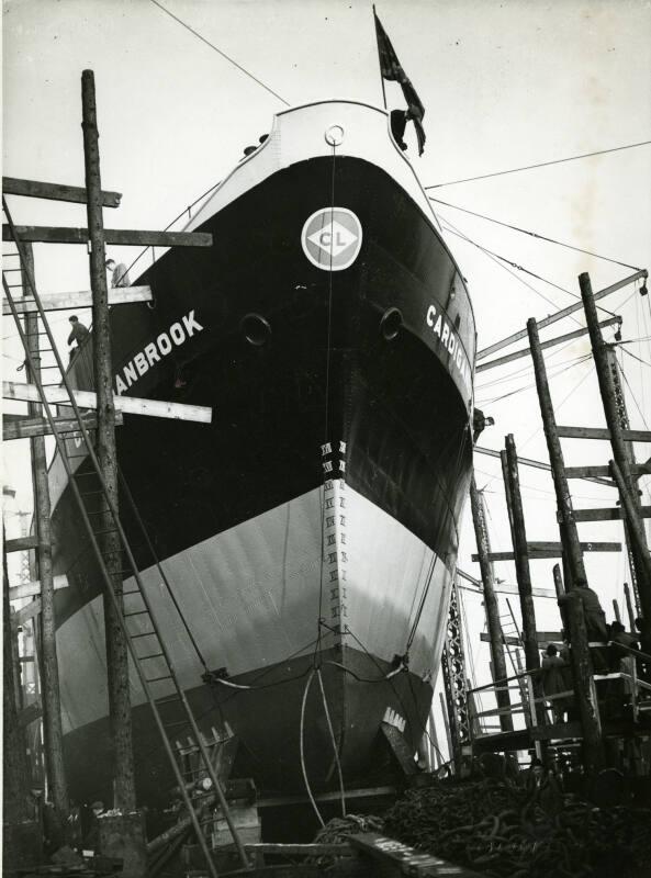
[[[648,571],[647,560],[649,558],[649,545],[647,543],[647,534],[640,515],[640,497],[638,494],[638,485],[631,473],[631,464],[635,462],[631,455],[631,447],[624,438],[624,429],[628,427],[628,415],[622,393],[617,393],[617,385],[619,383],[619,375],[617,372],[617,361],[604,341],[599,322],[597,317],[597,308],[595,305],[594,295],[592,292],[592,284],[590,282],[590,274],[584,272],[579,275],[579,285],[581,288],[581,297],[583,300],[583,309],[585,312],[585,319],[590,329],[590,340],[592,344],[592,352],[599,381],[599,392],[602,402],[604,404],[604,414],[606,415],[606,424],[610,434],[610,444],[613,447],[613,457],[619,468],[622,476],[622,486],[619,486],[619,496],[624,504],[622,488],[630,498],[631,514],[627,515],[627,527],[625,532],[627,539],[632,537],[630,545],[630,555],[632,560],[633,574],[637,581],[637,590],[640,599],[640,609],[646,619],[651,619],[651,576]],[[633,529],[633,519],[637,522],[637,536],[630,533]]]

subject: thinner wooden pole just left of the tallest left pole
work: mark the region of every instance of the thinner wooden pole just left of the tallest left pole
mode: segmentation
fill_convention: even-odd
[[[24,263],[21,267],[23,291],[34,286],[34,255],[32,245],[23,245]],[[33,370],[27,363],[27,380],[41,380],[41,348],[38,336],[38,317],[25,315],[25,336],[32,357]],[[29,404],[31,417],[42,417],[38,403]],[[38,545],[36,547],[36,575],[41,581],[41,618],[40,633],[40,671],[42,676],[43,702],[43,739],[49,798],[54,804],[56,819],[64,826],[68,817],[69,802],[64,767],[64,732],[61,727],[61,702],[59,689],[59,669],[56,649],[56,619],[54,608],[54,572],[52,564],[52,530],[49,483],[47,477],[47,458],[45,438],[36,436],[30,439],[32,458],[32,477],[34,489],[34,522]]]

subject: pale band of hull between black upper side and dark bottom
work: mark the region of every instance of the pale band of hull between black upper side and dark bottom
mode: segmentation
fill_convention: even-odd
[[[337,518],[336,577],[324,496],[345,508],[344,524]],[[431,550],[411,531],[334,480],[325,494],[311,491],[167,559],[164,566],[209,667],[226,667],[232,676],[308,653],[319,611],[333,628],[339,617],[344,632],[339,638],[326,631],[323,648],[363,644],[391,661],[405,652],[427,589],[409,650],[411,669],[425,676],[438,668],[450,585],[440,560],[430,575],[433,560]],[[155,567],[142,575],[182,686],[201,685],[202,666],[160,576]],[[132,587],[126,581],[125,588]],[[150,651],[147,638],[137,642],[141,654]],[[59,628],[57,650],[64,731],[69,732],[108,712],[101,596]],[[155,661],[147,665],[150,676],[158,675]],[[157,685],[155,694],[165,695]],[[134,706],[145,700],[133,668],[132,699]]]

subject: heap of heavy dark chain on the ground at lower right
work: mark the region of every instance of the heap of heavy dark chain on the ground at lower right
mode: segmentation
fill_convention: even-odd
[[[638,878],[651,862],[651,812],[563,797],[553,814],[502,780],[408,791],[384,834],[495,878]]]

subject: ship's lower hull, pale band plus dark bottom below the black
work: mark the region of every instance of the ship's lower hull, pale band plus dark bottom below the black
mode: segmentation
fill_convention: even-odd
[[[336,528],[324,515],[326,503],[346,510],[345,518],[338,513]],[[338,549],[334,566],[327,563],[328,530]],[[378,735],[388,708],[405,720],[405,736],[416,747],[442,646],[451,574],[418,538],[343,480],[184,550],[164,567],[170,583],[183,585],[175,593],[183,618],[158,571],[143,573],[162,640],[200,727],[210,734],[228,723],[236,733],[237,775],[255,777],[269,791],[303,788],[301,702],[315,667],[347,783],[384,776],[388,754]],[[202,683],[204,668],[183,620],[201,658],[212,671],[225,668],[226,683]],[[146,652],[147,639],[138,643]],[[61,626],[58,653],[72,797],[109,796],[101,596]],[[386,678],[395,656],[405,654],[408,671]],[[156,675],[151,664],[148,673]],[[155,689],[157,697],[167,693]],[[138,800],[151,806],[165,801],[173,783],[133,672],[132,702]],[[188,734],[179,729],[179,741],[187,743]],[[317,676],[310,682],[304,745],[310,783],[332,787],[337,775]]]

